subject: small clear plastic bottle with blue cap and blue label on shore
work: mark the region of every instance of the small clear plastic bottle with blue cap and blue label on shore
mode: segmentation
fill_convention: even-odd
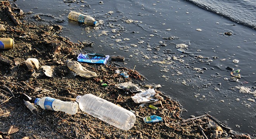
[[[78,103],[64,102],[51,97],[36,98],[35,104],[45,110],[62,111],[71,115],[78,112]]]

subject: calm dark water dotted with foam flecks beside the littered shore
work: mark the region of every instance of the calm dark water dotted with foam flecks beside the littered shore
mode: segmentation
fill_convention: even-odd
[[[45,19],[43,24],[62,25],[62,36],[74,42],[93,41],[93,47],[85,48],[85,51],[125,56],[125,62],[118,64],[128,68],[136,66],[135,70],[147,78],[145,83],[161,84],[160,91],[178,100],[188,111],[183,111],[184,119],[207,112],[234,131],[256,136],[256,103],[248,100],[256,100],[255,96],[229,89],[246,86],[253,92],[256,88],[256,32],[252,28],[234,25],[236,23],[231,20],[184,1],[107,0],[99,4],[95,1],[19,0],[16,3],[24,12],[33,11],[28,15],[33,22],[37,21],[31,17],[40,14]],[[88,29],[86,25],[67,19],[71,10],[103,20],[104,24],[99,25],[99,30]],[[109,11],[113,13],[108,14]],[[255,16],[250,17],[253,18]],[[138,22],[127,24],[127,19]],[[118,33],[113,33],[112,29]],[[102,35],[102,31],[107,35]],[[224,32],[233,35],[224,36]],[[170,36],[180,39],[163,39]],[[130,40],[124,41],[124,38]],[[121,41],[115,42],[116,39]],[[161,46],[160,41],[167,45]],[[175,44],[187,44],[187,53],[179,53]],[[203,58],[198,58],[200,56]],[[174,60],[175,57],[183,61]],[[239,63],[233,63],[234,59]],[[227,66],[241,70],[238,82],[224,80],[231,76]],[[207,69],[204,73],[193,70],[202,67]]]

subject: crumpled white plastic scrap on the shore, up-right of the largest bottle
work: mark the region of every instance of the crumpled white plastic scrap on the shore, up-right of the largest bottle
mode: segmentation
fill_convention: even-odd
[[[148,89],[145,92],[137,93],[134,96],[131,97],[131,99],[135,103],[143,103],[143,102],[150,102],[152,96],[156,95],[156,92],[154,89]]]

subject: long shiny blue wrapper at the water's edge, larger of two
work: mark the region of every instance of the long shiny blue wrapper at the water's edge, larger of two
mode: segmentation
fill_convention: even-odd
[[[77,61],[86,63],[106,64],[109,55],[103,56],[101,54],[79,54]]]

